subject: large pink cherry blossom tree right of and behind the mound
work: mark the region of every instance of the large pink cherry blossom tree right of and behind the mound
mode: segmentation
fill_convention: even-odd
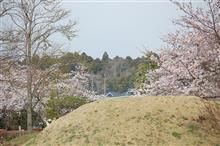
[[[160,68],[147,73],[145,93],[151,95],[220,95],[220,3],[206,7],[173,2],[184,13],[174,21],[179,30],[164,40],[156,61]]]

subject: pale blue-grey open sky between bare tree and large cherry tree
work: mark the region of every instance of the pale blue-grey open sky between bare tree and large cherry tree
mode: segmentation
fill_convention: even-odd
[[[106,51],[133,58],[143,51],[157,51],[165,44],[161,38],[175,31],[172,23],[180,15],[168,0],[63,0],[70,19],[77,22],[77,37],[65,42],[68,51],[101,57]]]

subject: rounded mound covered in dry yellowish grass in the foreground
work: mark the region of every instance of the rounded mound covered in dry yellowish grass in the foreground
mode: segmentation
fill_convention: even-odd
[[[100,100],[56,120],[27,145],[218,146],[219,135],[198,120],[201,106],[197,97]]]

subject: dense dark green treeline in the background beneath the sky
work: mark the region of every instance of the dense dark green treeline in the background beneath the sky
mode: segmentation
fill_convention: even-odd
[[[20,62],[24,64],[23,60]],[[149,62],[146,57],[133,59],[116,56],[113,59],[105,52],[102,58],[92,58],[86,53],[67,52],[59,56],[43,54],[35,55],[32,63],[44,70],[53,65],[59,65],[62,73],[76,70],[77,66],[83,65],[90,76],[89,90],[98,94],[116,92],[121,94],[130,88],[134,88],[145,79],[145,73]]]

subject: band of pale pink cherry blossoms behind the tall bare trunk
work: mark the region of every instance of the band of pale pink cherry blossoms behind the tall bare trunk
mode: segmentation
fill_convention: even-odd
[[[86,97],[96,100],[98,96],[88,90],[89,74],[83,70],[60,74],[53,66],[48,70],[33,70],[32,98],[35,111],[42,111],[51,91],[57,92],[57,98],[66,96]],[[11,67],[10,73],[0,74],[0,109],[20,110],[26,105],[27,78],[26,67]]]

